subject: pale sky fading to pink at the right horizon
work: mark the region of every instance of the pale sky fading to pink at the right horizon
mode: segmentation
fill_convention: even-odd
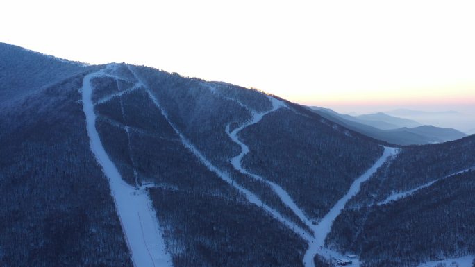
[[[2,2],[0,42],[340,112],[475,114],[474,14],[474,1],[15,0]]]

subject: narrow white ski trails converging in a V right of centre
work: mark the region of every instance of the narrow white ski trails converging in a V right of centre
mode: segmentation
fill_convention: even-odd
[[[360,185],[368,180],[375,172],[376,170],[381,167],[387,160],[390,158],[392,155],[396,155],[398,149],[397,148],[389,148],[385,147],[383,155],[374,163],[372,167],[370,167],[363,175],[361,175],[359,178],[357,178],[353,184],[351,184],[351,187],[349,188],[349,191],[340,199],[338,202],[331,208],[331,210],[322,218],[322,221],[320,221],[317,225],[314,225],[310,218],[306,216],[303,211],[297,206],[297,204],[294,203],[290,195],[278,184],[271,182],[263,177],[260,177],[259,175],[249,173],[246,169],[242,167],[241,161],[244,155],[249,153],[249,147],[244,144],[240,139],[238,138],[238,133],[248,127],[251,126],[252,124],[258,123],[265,114],[269,114],[270,112],[274,112],[275,110],[278,110],[281,107],[285,107],[285,104],[282,101],[278,101],[276,98],[272,98],[269,96],[269,100],[272,101],[272,108],[268,110],[267,112],[256,112],[248,108],[251,113],[252,117],[251,120],[248,121],[247,123],[244,123],[243,125],[239,126],[238,128],[235,128],[234,130],[230,130],[230,126],[226,126],[226,133],[229,135],[229,137],[235,141],[236,144],[238,144],[242,150],[241,153],[231,159],[231,164],[233,167],[247,175],[250,175],[252,178],[261,180],[263,182],[266,182],[269,184],[269,186],[274,190],[274,192],[277,194],[279,198],[283,201],[285,205],[287,205],[294,214],[296,214],[303,223],[305,223],[313,233],[309,233],[306,230],[303,230],[303,228],[298,227],[295,223],[290,221],[288,218],[285,218],[282,214],[280,214],[278,211],[273,209],[272,207],[269,207],[269,205],[265,204],[258,196],[256,196],[254,193],[246,189],[245,187],[242,187],[240,184],[235,182],[231,176],[222,171],[221,169],[217,168],[210,160],[208,160],[199,149],[194,146],[186,137],[183,135],[183,132],[178,130],[176,125],[169,119],[169,115],[166,110],[163,109],[162,105],[160,104],[160,101],[156,96],[151,92],[151,89],[147,86],[146,83],[144,83],[140,77],[135,73],[133,68],[128,65],[128,69],[131,71],[133,76],[135,76],[135,79],[138,80],[138,83],[143,85],[145,91],[149,95],[149,98],[151,98],[151,101],[153,102],[154,105],[160,110],[160,112],[163,114],[167,122],[169,123],[170,126],[174,129],[178,137],[181,139],[181,143],[183,146],[188,148],[190,152],[199,159],[199,161],[206,166],[210,171],[213,173],[216,173],[219,178],[230,184],[232,187],[240,191],[247,200],[249,200],[250,203],[253,203],[254,205],[257,205],[258,207],[264,209],[266,212],[271,214],[274,218],[276,218],[278,221],[283,223],[283,225],[287,226],[290,230],[292,230],[294,233],[298,234],[301,236],[303,240],[305,240],[308,243],[308,249],[306,250],[306,253],[303,257],[303,265],[306,267],[315,267],[314,263],[314,258],[315,255],[321,255],[322,257],[325,257],[326,259],[338,259],[338,258],[344,258],[343,255],[340,253],[329,250],[328,248],[324,248],[324,241],[326,239],[326,236],[328,233],[331,231],[331,227],[333,226],[333,221],[335,221],[335,218],[337,218],[340,213],[342,212],[342,209],[344,209],[344,206],[347,204],[347,202],[355,196],[358,191],[360,191]],[[213,91],[213,90],[212,90]],[[213,91],[214,92],[214,91]],[[243,105],[242,103],[239,102],[240,105]],[[244,106],[244,105],[243,105]],[[245,107],[245,106],[244,106]],[[358,259],[353,259],[353,264],[350,266],[360,266],[360,262]]]

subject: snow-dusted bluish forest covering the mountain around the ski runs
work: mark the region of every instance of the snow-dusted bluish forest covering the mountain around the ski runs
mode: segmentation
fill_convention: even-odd
[[[131,266],[78,94],[84,74],[104,66],[34,54],[31,64],[17,58],[15,67],[15,55],[0,51],[6,57],[0,71],[12,73],[0,77],[0,89],[31,94],[0,105],[0,266]],[[34,74],[22,80],[25,68]],[[308,225],[383,151],[380,141],[287,102],[240,131],[237,141],[226,127],[268,111],[265,94],[125,64],[110,64],[104,73],[114,76],[92,80],[101,144],[124,182],[142,186],[134,193],[151,194],[175,266],[301,266],[301,232],[310,233]],[[474,140],[403,148],[362,184],[326,244],[361,255],[365,266],[475,254],[475,171],[377,205],[392,191],[473,166]],[[239,142],[249,146],[242,160],[248,173],[230,162],[244,148]],[[303,223],[266,179],[313,222]],[[251,194],[258,205],[250,204]],[[315,264],[333,265],[320,257]]]

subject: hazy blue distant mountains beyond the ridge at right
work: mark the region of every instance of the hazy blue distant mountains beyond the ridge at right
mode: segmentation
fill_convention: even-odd
[[[373,137],[386,141],[390,144],[413,145],[433,144],[452,141],[466,137],[467,135],[451,128],[435,126],[421,126],[417,121],[402,119],[385,113],[350,116],[340,114],[333,110],[322,107],[311,107],[319,115],[343,126]]]

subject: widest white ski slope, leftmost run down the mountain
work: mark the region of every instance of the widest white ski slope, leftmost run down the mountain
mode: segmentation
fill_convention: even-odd
[[[145,189],[135,189],[122,180],[115,164],[103,148],[97,132],[96,114],[92,103],[91,79],[103,75],[103,71],[88,74],[83,79],[83,112],[90,138],[90,148],[109,181],[117,215],[132,254],[135,267],[172,266],[171,257],[165,252],[156,212]]]

